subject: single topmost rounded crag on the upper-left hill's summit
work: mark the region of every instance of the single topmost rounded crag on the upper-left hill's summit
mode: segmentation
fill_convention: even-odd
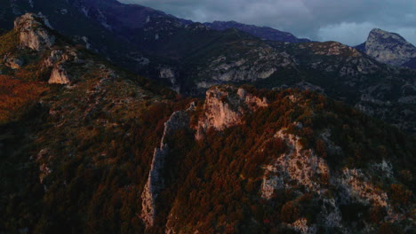
[[[27,13],[14,21],[14,28],[20,32],[21,47],[44,51],[55,43],[55,36],[49,34],[42,15]]]

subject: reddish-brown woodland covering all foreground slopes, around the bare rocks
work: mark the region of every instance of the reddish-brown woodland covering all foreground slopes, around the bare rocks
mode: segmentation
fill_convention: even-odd
[[[18,50],[17,36],[0,36],[0,233],[164,233],[166,226],[178,233],[297,233],[291,225],[300,218],[316,233],[342,233],[320,220],[324,199],[341,193],[328,174],[310,178],[324,194],[293,180],[271,199],[261,197],[265,166],[290,151],[275,137],[280,130],[299,136],[333,174],[363,170],[374,192],[387,194],[389,207],[337,204],[346,230],[414,230],[416,140],[395,127],[309,90],[244,85],[268,106],[196,140],[204,98],[184,98],[60,37],[45,51]],[[52,67],[38,69],[53,50],[74,51],[83,61],[60,61],[72,74],[67,84],[47,84]],[[5,67],[6,55],[25,62]],[[190,128],[166,139],[166,187],[156,199],[156,224],[146,229],[141,194],[164,123],[192,102]],[[394,176],[374,170],[385,160]],[[387,221],[386,207],[400,219]]]

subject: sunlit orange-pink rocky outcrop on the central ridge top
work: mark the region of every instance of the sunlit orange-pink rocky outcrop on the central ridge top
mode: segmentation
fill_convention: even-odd
[[[244,113],[268,106],[266,98],[259,98],[233,86],[215,86],[206,91],[204,113],[196,127],[196,139],[204,138],[207,129],[222,130],[242,122]]]

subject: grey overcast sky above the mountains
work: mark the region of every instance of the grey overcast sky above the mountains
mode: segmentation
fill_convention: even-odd
[[[416,45],[416,0],[119,0],[198,22],[236,20],[316,41],[363,43],[374,27]]]

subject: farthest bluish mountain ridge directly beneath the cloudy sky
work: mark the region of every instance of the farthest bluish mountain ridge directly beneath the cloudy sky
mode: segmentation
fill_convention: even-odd
[[[309,43],[308,39],[300,39],[291,33],[282,32],[272,27],[258,27],[254,25],[246,25],[236,21],[213,21],[212,23],[204,23],[205,26],[215,30],[226,30],[236,28],[251,35],[255,35],[264,40],[284,42],[284,43]]]

